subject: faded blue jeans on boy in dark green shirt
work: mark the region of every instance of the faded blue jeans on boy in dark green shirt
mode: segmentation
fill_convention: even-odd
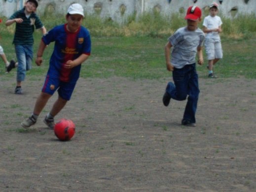
[[[15,45],[18,60],[17,81],[24,81],[26,71],[32,68],[33,45]]]

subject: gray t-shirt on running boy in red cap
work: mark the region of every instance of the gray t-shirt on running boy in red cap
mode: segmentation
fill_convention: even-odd
[[[173,46],[171,64],[182,68],[186,64],[194,64],[197,47],[201,47],[205,38],[202,30],[188,31],[186,27],[178,29],[168,38]]]

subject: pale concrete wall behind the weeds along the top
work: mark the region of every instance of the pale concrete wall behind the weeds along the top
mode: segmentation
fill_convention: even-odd
[[[0,0],[0,15],[9,17],[14,11],[23,7],[25,0]],[[211,3],[219,1],[219,11],[226,17],[238,14],[256,13],[256,0],[38,0],[37,14],[47,11],[66,14],[67,8],[73,2],[80,3],[86,13],[99,14],[101,17],[122,23],[134,12],[137,16],[144,11],[158,10],[169,15],[183,12],[194,4],[207,8]]]

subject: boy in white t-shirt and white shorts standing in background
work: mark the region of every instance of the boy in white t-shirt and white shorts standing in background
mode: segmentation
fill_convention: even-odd
[[[213,72],[213,66],[219,59],[222,59],[222,48],[220,42],[219,33],[222,32],[221,25],[222,21],[217,14],[219,5],[213,3],[210,5],[210,15],[205,17],[203,22],[203,32],[206,33],[205,36],[205,50],[208,59],[208,77],[216,78],[217,76]]]

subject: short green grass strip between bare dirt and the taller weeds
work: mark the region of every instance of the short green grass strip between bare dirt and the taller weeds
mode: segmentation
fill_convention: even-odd
[[[11,42],[12,34],[4,34],[1,45],[7,58],[15,58],[14,47]],[[34,54],[40,34],[35,35],[36,43]],[[7,40],[5,40],[7,39]],[[92,52],[89,59],[83,64],[80,76],[83,78],[108,78],[111,76],[128,77],[134,79],[159,79],[169,78],[170,73],[165,67],[164,46],[165,38],[153,38],[148,36],[130,37],[92,37]],[[256,39],[231,39],[222,38],[223,59],[215,66],[215,72],[219,77],[256,78],[256,57],[254,47]],[[53,44],[47,47],[44,53],[42,66],[34,64],[33,70],[28,72],[30,80],[37,81],[44,75],[48,68],[48,62],[53,49]],[[197,65],[199,76],[206,78],[207,60],[203,66]],[[4,65],[0,67],[0,74],[4,73]],[[5,78],[14,78],[11,72]]]

